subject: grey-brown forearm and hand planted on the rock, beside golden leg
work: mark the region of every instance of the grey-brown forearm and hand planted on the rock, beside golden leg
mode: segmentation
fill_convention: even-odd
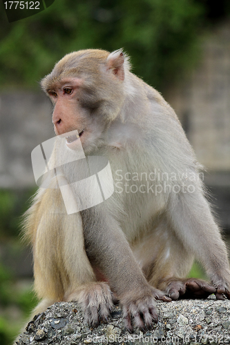
[[[99,205],[81,212],[86,253],[90,263],[108,281],[123,306],[128,331],[135,326],[144,330],[157,322],[155,298],[169,301],[160,290],[146,282],[122,229]]]

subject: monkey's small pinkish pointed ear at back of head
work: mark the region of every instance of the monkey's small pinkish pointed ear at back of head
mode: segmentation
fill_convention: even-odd
[[[115,75],[117,79],[121,81],[124,80],[124,53],[122,49],[115,50],[115,52],[111,52],[111,54],[108,55],[106,68],[107,70],[112,70],[113,75]]]

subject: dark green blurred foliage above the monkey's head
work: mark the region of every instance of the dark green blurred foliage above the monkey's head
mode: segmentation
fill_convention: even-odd
[[[55,61],[85,48],[131,55],[133,71],[164,83],[191,65],[205,17],[198,0],[56,0],[50,8],[8,23],[0,4],[0,83],[37,87]]]

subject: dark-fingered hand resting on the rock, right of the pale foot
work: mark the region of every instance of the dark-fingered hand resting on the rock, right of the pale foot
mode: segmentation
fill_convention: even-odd
[[[144,288],[143,288],[144,290]],[[140,294],[139,294],[140,295]],[[170,302],[171,298],[166,297],[162,291],[149,287],[147,291],[142,291],[142,295],[137,297],[137,293],[126,295],[120,299],[123,308],[124,326],[129,333],[133,333],[133,328],[140,328],[140,331],[151,330],[153,324],[158,322],[155,299]]]

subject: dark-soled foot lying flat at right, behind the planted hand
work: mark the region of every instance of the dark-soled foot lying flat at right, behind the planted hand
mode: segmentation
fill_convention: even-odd
[[[216,288],[202,279],[169,278],[165,293],[173,300],[179,298],[207,298],[212,293],[216,293]]]

